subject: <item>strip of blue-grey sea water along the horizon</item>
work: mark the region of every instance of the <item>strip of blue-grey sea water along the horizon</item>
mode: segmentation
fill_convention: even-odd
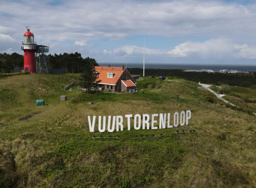
[[[121,67],[125,64],[122,63],[98,63],[100,66]],[[142,63],[127,63],[127,68],[143,68]],[[251,71],[256,72],[256,65],[218,65],[218,64],[161,64],[151,63],[145,64],[145,68],[162,68],[162,69],[210,69],[213,71],[219,71],[222,69],[238,70],[238,71]]]

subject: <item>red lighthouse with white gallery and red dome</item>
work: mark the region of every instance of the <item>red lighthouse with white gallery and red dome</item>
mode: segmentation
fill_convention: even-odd
[[[24,72],[36,73],[35,51],[37,44],[34,41],[34,35],[27,29],[23,37],[21,49],[24,51]]]

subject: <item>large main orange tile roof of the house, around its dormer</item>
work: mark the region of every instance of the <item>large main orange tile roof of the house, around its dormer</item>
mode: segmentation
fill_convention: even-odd
[[[119,80],[120,76],[122,76],[123,71],[125,71],[126,68],[122,70],[122,67],[100,67],[95,66],[94,67],[96,72],[98,72],[98,79],[96,79],[96,82],[98,80],[101,80],[99,83],[107,83],[107,84],[113,84],[116,85],[117,81]],[[108,78],[107,73],[113,73],[113,78]]]

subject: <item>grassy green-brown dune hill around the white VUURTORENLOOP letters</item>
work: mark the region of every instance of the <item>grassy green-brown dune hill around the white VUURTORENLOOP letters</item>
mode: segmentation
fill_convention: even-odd
[[[78,78],[79,74],[0,78],[0,187],[256,185],[255,115],[207,102],[197,83],[184,79],[145,78],[137,84],[145,93],[137,94],[77,94],[75,86],[64,91]],[[255,91],[248,90],[255,99]],[[60,102],[62,95],[69,100]],[[48,106],[35,106],[36,99]],[[172,129],[128,131],[125,124],[122,132],[90,133],[87,121],[87,115],[124,117],[187,109],[192,111],[189,125]],[[33,112],[38,114],[18,120]],[[177,134],[181,129],[197,133]],[[161,133],[162,137],[136,138]]]

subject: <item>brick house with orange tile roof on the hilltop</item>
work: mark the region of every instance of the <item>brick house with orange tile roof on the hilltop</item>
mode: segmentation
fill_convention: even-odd
[[[126,67],[111,67],[109,65],[108,67],[95,66],[94,68],[98,75],[96,82],[100,81],[98,86],[101,91],[135,91],[135,81]]]

